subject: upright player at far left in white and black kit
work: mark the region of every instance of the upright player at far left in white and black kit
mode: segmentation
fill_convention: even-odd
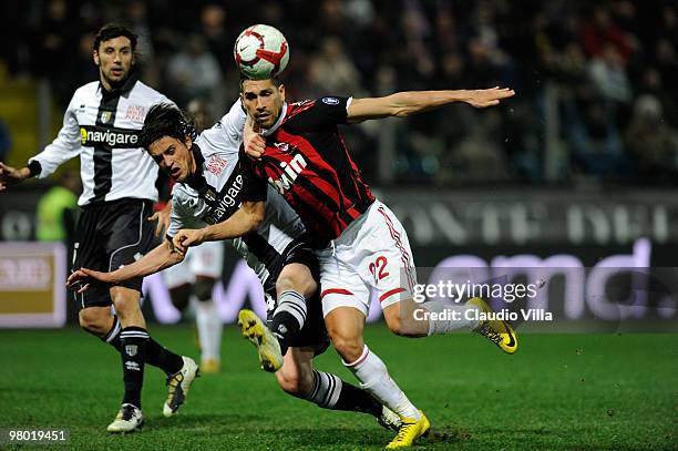
[[[134,33],[124,27],[104,25],[94,38],[92,52],[99,81],[75,91],[56,139],[25,167],[0,163],[3,191],[33,176],[47,177],[65,161],[80,156],[82,215],[73,249],[78,268],[122,267],[146,253],[153,239],[153,226],[146,217],[157,201],[157,167],[137,141],[151,105],[168,100],[137,80],[135,49]],[[130,432],[143,426],[144,363],[167,375],[166,417],[184,402],[198,373],[191,358],[177,356],[148,335],[140,307],[141,287],[142,278],[137,277],[76,296],[80,326],[122,357],[124,397],[117,417],[107,427],[110,432]]]

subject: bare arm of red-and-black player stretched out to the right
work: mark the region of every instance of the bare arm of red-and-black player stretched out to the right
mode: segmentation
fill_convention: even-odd
[[[514,95],[515,91],[499,86],[489,90],[397,92],[386,98],[353,99],[347,119],[350,123],[357,123],[388,116],[405,117],[453,102],[484,109]]]

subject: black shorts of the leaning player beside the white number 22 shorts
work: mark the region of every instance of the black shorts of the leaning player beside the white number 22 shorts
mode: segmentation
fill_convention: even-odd
[[[314,279],[316,283],[318,283],[318,287],[320,287],[320,267],[318,265],[318,258],[307,240],[304,237],[299,237],[287,246],[285,253],[282,254],[279,270],[275,271],[269,277],[269,281],[273,279],[273,284],[267,284],[266,286],[267,296],[270,296],[273,299],[277,299],[275,281],[282,270],[282,267],[292,263],[299,263],[308,267],[314,276]],[[270,285],[273,285],[273,287]],[[277,304],[274,304],[277,307]],[[267,305],[270,304],[267,303]],[[319,356],[325,352],[330,345],[330,339],[327,334],[327,329],[325,328],[325,318],[322,317],[320,288],[318,288],[312,297],[306,299],[306,322],[304,324],[301,330],[299,330],[299,334],[290,339],[289,346],[295,348],[312,347],[315,348],[316,356]],[[269,309],[267,312],[266,319],[269,326],[275,308],[273,310]]]

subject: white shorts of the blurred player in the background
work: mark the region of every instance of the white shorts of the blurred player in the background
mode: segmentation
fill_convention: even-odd
[[[163,270],[167,288],[175,288],[186,284],[195,284],[198,276],[218,279],[222,277],[224,266],[224,243],[205,242],[192,247],[184,262]]]

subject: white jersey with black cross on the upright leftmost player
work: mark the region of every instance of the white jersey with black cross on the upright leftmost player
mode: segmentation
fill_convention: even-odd
[[[40,163],[42,178],[80,155],[81,206],[123,197],[155,202],[158,167],[136,144],[146,113],[164,102],[170,100],[134,75],[113,92],[88,83],[73,94],[59,135],[29,164]]]

